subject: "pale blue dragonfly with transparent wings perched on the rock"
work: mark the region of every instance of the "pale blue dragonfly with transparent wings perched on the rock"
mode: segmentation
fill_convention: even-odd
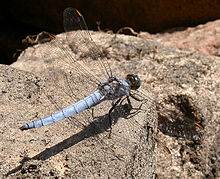
[[[103,101],[112,102],[112,107],[108,113],[109,126],[112,126],[114,125],[115,121],[111,114],[118,105],[122,104],[122,102],[127,101],[129,106],[131,106],[130,98],[140,101],[140,107],[137,110],[140,110],[142,104],[145,102],[151,101],[152,104],[152,97],[139,90],[141,86],[141,80],[137,75],[128,74],[126,78],[123,79],[112,74],[112,70],[106,55],[92,40],[85,20],[77,9],[66,8],[64,10],[63,24],[64,30],[67,33],[67,41],[72,41],[71,39],[76,39],[74,37],[77,37],[78,40],[71,42],[75,47],[74,50],[79,48],[79,51],[83,52],[85,49],[87,49],[87,53],[92,57],[92,59],[96,61],[97,67],[100,71],[99,74],[101,75],[94,75],[94,71],[91,72],[91,70],[88,69],[88,67],[85,65],[85,63],[87,63],[86,61],[83,61],[84,64],[80,63],[80,60],[75,59],[74,55],[70,52],[70,50],[64,47],[57,36],[47,33],[51,39],[50,53],[62,53],[62,55],[65,57],[63,59],[59,59],[62,63],[62,66],[70,67],[72,72],[78,74],[79,77],[83,76],[84,83],[83,85],[79,86],[79,91],[81,92],[82,88],[84,91],[87,91],[87,94],[85,98],[80,99],[78,97],[78,94],[80,93],[74,93],[74,90],[71,89],[71,92],[73,93],[72,98],[74,98],[75,101],[74,104],[62,108],[58,112],[48,115],[47,117],[29,122],[23,125],[20,128],[21,130],[39,128],[56,123],[65,118],[74,116],[78,113],[82,113]],[[56,51],[53,51],[54,47]],[[54,80],[55,84],[58,83],[56,80]],[[71,88],[70,85],[65,85]],[[89,90],[87,90],[88,85],[95,86],[96,90],[90,93]]]

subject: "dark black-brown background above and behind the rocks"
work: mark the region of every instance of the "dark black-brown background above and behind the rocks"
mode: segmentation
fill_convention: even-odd
[[[51,1],[10,0],[1,6],[1,63],[16,60],[16,49],[24,49],[21,40],[41,31],[62,32],[62,12],[66,7],[78,8],[89,25],[97,29],[117,31],[131,27],[135,31],[162,32],[173,27],[196,26],[220,17],[218,1]],[[7,49],[8,48],[8,49]],[[4,61],[3,61],[4,59]],[[6,60],[7,59],[7,60]]]

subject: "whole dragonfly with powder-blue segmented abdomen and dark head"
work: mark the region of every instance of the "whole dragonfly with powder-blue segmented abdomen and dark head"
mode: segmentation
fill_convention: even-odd
[[[112,108],[109,110],[109,123],[113,124],[110,114],[117,104],[124,100],[124,98],[126,98],[130,103],[129,97],[140,100],[134,95],[135,93],[133,92],[137,91],[137,89],[139,89],[139,87],[141,86],[140,78],[135,74],[128,74],[126,76],[126,79],[122,79],[119,76],[113,76],[110,64],[108,63],[107,59],[99,58],[102,52],[92,40],[85,20],[82,14],[77,9],[66,8],[64,10],[63,24],[66,32],[80,30],[78,32],[78,35],[80,35],[81,38],[86,42],[88,48],[90,48],[91,50],[90,53],[93,55],[93,57],[98,57],[96,58],[98,66],[100,67],[101,71],[107,76],[107,79],[105,81],[100,81],[98,77],[91,74],[89,71],[86,70],[84,66],[79,64],[73,56],[71,56],[70,54],[66,54],[68,63],[75,66],[75,69],[77,69],[77,71],[80,71],[82,75],[86,75],[89,79],[91,79],[91,81],[93,81],[97,86],[97,90],[85,97],[84,99],[81,99],[73,105],[70,105],[54,114],[23,125],[20,128],[21,130],[39,128],[56,123],[60,120],[92,108],[105,100],[117,100]],[[57,40],[56,37],[52,34],[49,34],[49,37],[54,41]],[[67,53],[65,48],[59,42],[57,42],[56,45],[59,46],[64,54]]]

